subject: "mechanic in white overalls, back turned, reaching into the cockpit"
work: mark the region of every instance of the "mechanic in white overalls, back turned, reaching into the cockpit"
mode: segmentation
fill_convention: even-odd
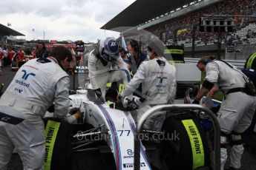
[[[154,40],[148,45],[150,61],[143,61],[125,90],[117,100],[131,95],[142,84],[142,98],[139,102],[137,121],[146,110],[158,104],[172,103],[176,94],[176,69],[162,56],[162,43]],[[145,121],[143,128],[160,131],[165,120],[165,112],[158,112]]]

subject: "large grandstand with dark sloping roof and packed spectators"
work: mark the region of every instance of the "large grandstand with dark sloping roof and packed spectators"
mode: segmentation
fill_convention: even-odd
[[[182,45],[188,54],[186,57],[189,57],[193,45],[194,26],[197,28],[194,30],[195,52],[211,49],[216,53],[217,50],[217,33],[200,32],[197,27],[200,16],[227,15],[232,16],[235,27],[234,32],[221,34],[222,57],[234,59],[234,53],[240,52],[240,59],[244,59],[253,52],[251,49],[255,48],[255,0],[183,0],[178,2],[162,0],[157,1],[158,4],[154,3],[156,2],[137,0],[108,21],[102,29],[118,31],[125,38],[134,38],[138,31],[145,30],[160,38],[166,45]],[[138,9],[139,7],[150,10],[142,12]],[[142,35],[141,38],[151,37]],[[228,51],[227,48],[229,48]]]

